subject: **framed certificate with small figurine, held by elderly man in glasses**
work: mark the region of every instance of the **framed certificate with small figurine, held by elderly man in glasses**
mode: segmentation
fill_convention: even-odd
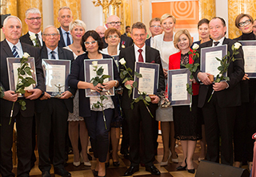
[[[46,92],[58,96],[69,88],[66,78],[70,74],[70,60],[42,59],[42,69],[46,77]]]

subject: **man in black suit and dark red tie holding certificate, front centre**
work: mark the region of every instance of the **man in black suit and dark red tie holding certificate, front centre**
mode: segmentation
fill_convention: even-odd
[[[122,49],[119,57],[126,60],[126,66],[134,71],[135,61],[157,63],[159,67],[159,81],[158,81],[158,92],[165,90],[164,75],[162,71],[162,65],[160,60],[160,54],[158,50],[150,48],[145,45],[146,41],[146,26],[142,22],[134,23],[131,30],[131,37],[134,40],[134,45],[126,49]],[[124,67],[120,65],[122,69]],[[134,81],[126,81],[124,85],[133,85]],[[122,110],[124,111],[129,128],[130,135],[130,167],[127,169],[125,175],[133,175],[134,172],[138,171],[140,160],[139,155],[139,132],[140,123],[142,122],[142,134],[144,144],[144,159],[143,163],[146,166],[146,171],[150,171],[153,175],[160,175],[160,171],[154,167],[154,140],[153,140],[153,124],[154,118],[150,116],[150,113],[146,109],[145,104],[142,100],[138,103],[134,103],[134,109],[130,108],[132,98],[128,96],[128,89],[123,86],[122,94]],[[151,103],[149,105],[150,112],[155,116],[155,110],[158,107],[158,101],[160,98],[156,96],[150,96]]]

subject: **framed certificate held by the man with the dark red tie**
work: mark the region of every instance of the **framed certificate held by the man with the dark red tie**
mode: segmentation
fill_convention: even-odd
[[[141,78],[135,77],[134,81],[138,82],[138,90],[146,92],[147,95],[154,95],[158,91],[159,64],[135,62],[135,71],[142,74]],[[140,96],[134,88],[133,98]]]

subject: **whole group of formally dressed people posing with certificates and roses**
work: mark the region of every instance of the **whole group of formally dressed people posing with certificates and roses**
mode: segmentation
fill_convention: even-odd
[[[36,8],[26,10],[25,22],[29,31],[23,36],[22,22],[18,17],[7,17],[2,28],[6,36],[0,43],[2,176],[14,176],[11,151],[14,122],[18,134],[17,175],[22,177],[29,176],[31,167],[34,167],[35,132],[38,167],[43,177],[50,177],[51,164],[55,174],[71,176],[64,167],[69,140],[74,153],[74,166],[78,167],[82,162],[90,167],[87,155],[89,137],[94,158],[97,160],[94,175],[105,176],[106,167],[110,166],[110,156],[114,167],[120,164],[118,145],[121,128],[120,152],[130,159],[130,167],[124,175],[133,175],[139,171],[140,164],[152,175],[160,175],[153,163],[158,148],[158,121],[161,122],[164,152],[161,166],[166,166],[170,161],[178,163],[176,140],[181,141],[184,156],[177,167],[178,171],[194,173],[193,156],[197,140],[201,142],[198,161],[207,159],[219,163],[221,137],[221,163],[234,163],[235,167],[241,167],[242,161],[246,159],[249,168],[252,167],[254,140],[250,137],[256,130],[256,80],[249,78],[244,71],[242,48],[234,54],[234,58],[238,60],[230,62],[227,71],[230,81],[213,83],[208,77],[210,73],[202,73],[198,67],[193,73],[194,78],[190,80],[193,83],[191,107],[161,104],[163,100],[169,101],[166,99],[168,70],[183,69],[184,65],[193,62],[200,65],[200,57],[195,61],[192,59],[192,45],[199,45],[200,55],[202,48],[226,44],[232,55],[232,45],[236,41],[256,39],[256,21],[249,14],[239,14],[236,18],[235,25],[242,31],[242,36],[234,40],[225,37],[224,19],[215,17],[209,21],[203,18],[198,22],[201,40],[194,43],[188,30],[174,33],[176,18],[171,14],[163,14],[161,18],[150,21],[151,37],[148,39],[146,26],[142,22],[127,26],[126,33],[121,34],[122,22],[115,15],[107,18],[106,26],[86,31],[86,24],[78,19],[73,21],[72,12],[66,6],[58,10],[58,22],[61,24],[59,28],[46,26],[41,31],[42,15]],[[31,35],[35,35],[36,39],[31,39]],[[27,90],[31,95],[26,98],[19,97],[10,90],[10,80],[6,74],[6,57],[22,57],[23,53],[34,57],[37,77],[36,88]],[[113,80],[98,85],[86,82],[84,60],[110,58],[113,59]],[[119,72],[126,69],[118,62],[122,58],[133,75],[136,61],[159,65],[158,90],[155,95],[150,95],[151,102],[148,107],[142,100],[134,103],[134,108],[130,107],[133,99],[129,96],[127,85],[133,87],[134,81],[123,81],[120,78]],[[71,61],[70,75],[66,79],[68,89],[58,98],[46,92],[42,59]],[[106,96],[103,107],[96,108],[94,104],[100,98],[86,97],[87,88],[95,92],[114,88],[115,94]],[[213,91],[214,94],[208,102]],[[26,100],[26,110],[21,109],[17,100]],[[13,102],[14,118],[10,121]],[[81,148],[78,144],[81,144]]]

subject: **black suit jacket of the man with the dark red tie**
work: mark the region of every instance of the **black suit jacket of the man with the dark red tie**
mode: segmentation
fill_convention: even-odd
[[[153,49],[149,46],[146,45],[146,62],[147,63],[156,63],[159,64],[159,80],[158,80],[158,93],[157,95],[165,90],[165,77],[163,75],[163,70],[162,70],[162,63],[161,63],[161,58],[160,58],[160,53],[157,49]],[[134,53],[134,45],[122,49],[119,58],[124,58],[126,60],[126,67],[132,69],[134,75],[134,65],[135,65],[135,53]],[[144,59],[145,60],[145,59]],[[120,65],[120,69],[124,69],[122,65]],[[132,95],[132,94],[131,94]],[[123,94],[122,94],[122,108],[129,109],[130,108],[130,103],[132,102],[132,96],[128,96],[128,89],[123,86]],[[151,108],[157,108],[158,104],[151,104]]]

